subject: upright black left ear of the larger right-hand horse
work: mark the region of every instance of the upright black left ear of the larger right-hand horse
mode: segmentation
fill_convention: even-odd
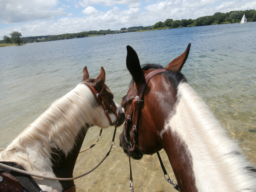
[[[131,73],[132,79],[136,83],[136,85],[141,84],[145,81],[144,73],[140,67],[140,60],[138,58],[137,53],[131,46],[127,46],[127,56],[126,56],[126,67],[128,71]]]

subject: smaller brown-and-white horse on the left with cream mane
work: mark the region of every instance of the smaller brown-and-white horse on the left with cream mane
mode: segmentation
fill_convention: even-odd
[[[82,82],[53,102],[0,152],[0,161],[8,165],[17,163],[16,166],[38,175],[70,178],[87,129],[94,125],[108,128],[115,123],[120,126],[123,122],[123,110],[105,84],[103,67],[96,79],[89,79],[87,67],[84,67]],[[63,192],[74,186],[73,180],[33,179],[41,190],[48,192]]]

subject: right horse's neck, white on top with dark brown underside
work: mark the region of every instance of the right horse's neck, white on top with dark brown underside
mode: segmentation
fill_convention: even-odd
[[[160,137],[180,191],[255,191],[255,169],[195,90],[181,83],[177,100]]]

